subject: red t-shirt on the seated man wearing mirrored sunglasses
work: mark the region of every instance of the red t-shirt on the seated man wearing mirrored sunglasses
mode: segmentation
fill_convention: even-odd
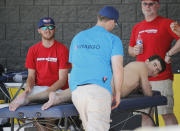
[[[30,47],[25,67],[36,70],[36,85],[51,86],[59,79],[59,69],[71,68],[69,51],[65,45],[54,41],[50,48],[45,48],[42,42]],[[68,88],[68,80],[66,86]]]

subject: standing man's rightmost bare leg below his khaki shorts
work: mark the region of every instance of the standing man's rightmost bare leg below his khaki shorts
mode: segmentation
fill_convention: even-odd
[[[163,117],[166,125],[177,125],[178,124],[178,121],[173,113],[162,115],[162,117]]]

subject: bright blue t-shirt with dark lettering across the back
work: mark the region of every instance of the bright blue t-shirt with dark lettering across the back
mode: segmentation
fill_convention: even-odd
[[[96,84],[111,94],[111,57],[123,56],[121,40],[101,26],[78,33],[71,42],[69,62],[73,64],[69,86]]]

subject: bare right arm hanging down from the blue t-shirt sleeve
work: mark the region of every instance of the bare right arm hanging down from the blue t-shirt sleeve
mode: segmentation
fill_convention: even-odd
[[[120,103],[121,97],[121,87],[123,83],[123,56],[115,55],[111,58],[112,71],[113,71],[113,81],[115,90],[115,105],[112,109],[116,108]]]

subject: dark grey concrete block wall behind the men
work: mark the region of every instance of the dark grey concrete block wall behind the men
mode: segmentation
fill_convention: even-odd
[[[180,0],[160,0],[160,15],[180,21]],[[0,0],[0,63],[8,69],[24,70],[28,48],[40,41],[37,22],[50,16],[57,25],[56,39],[67,47],[73,36],[92,27],[104,5],[120,12],[120,28],[115,29],[124,44],[124,63],[133,60],[127,54],[132,27],[143,19],[140,0]],[[176,55],[173,69],[180,69]]]

